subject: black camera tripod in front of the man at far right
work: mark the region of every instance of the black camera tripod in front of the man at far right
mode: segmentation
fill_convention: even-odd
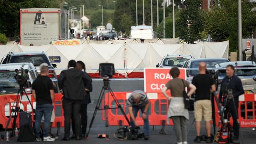
[[[220,126],[220,124],[223,124],[224,123],[224,118],[227,118],[228,122],[228,142],[227,143],[234,143],[233,140],[232,140],[232,126],[230,125],[230,110],[231,110],[231,106],[233,106],[234,110],[235,110],[235,116],[236,118],[238,119],[238,114],[237,114],[237,107],[236,107],[236,103],[235,103],[235,99],[232,95],[232,90],[228,90],[228,93],[227,94],[224,94],[224,98],[223,98],[223,101],[224,101],[224,104],[223,104],[223,110],[221,109],[221,106],[217,100],[217,96],[216,97],[216,102],[217,102],[217,106],[219,108],[219,114],[221,116],[221,120],[219,121],[218,123],[218,127]],[[227,111],[226,110],[226,106],[228,105],[228,109]],[[225,116],[223,115],[225,114]],[[239,120],[237,120],[237,123],[239,124]],[[221,131],[221,129],[220,129]],[[240,132],[241,133],[241,132]],[[215,134],[215,137],[213,139],[213,142],[212,144],[215,143],[215,138],[217,137],[217,133]],[[241,140],[242,140],[242,143],[243,143],[243,136],[242,136],[242,133],[241,133]]]

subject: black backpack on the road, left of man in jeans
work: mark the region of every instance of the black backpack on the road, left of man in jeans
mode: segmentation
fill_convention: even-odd
[[[20,141],[20,142],[34,142],[35,141],[35,133],[30,124],[26,123],[20,127],[18,141]]]

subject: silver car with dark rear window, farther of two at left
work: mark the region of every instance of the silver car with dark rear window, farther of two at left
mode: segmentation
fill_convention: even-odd
[[[47,63],[49,66],[49,74],[48,77],[54,82],[55,84],[55,92],[58,92],[58,81],[57,81],[57,74],[54,68],[57,68],[56,64],[52,64],[50,59],[47,57],[45,52],[19,52],[19,53],[12,53],[5,55],[1,61],[1,64],[6,63],[32,63],[37,72],[40,74],[39,66],[42,63]]]

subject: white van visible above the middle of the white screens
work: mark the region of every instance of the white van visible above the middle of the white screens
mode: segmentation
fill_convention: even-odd
[[[154,39],[154,31],[152,26],[132,26],[131,38]]]

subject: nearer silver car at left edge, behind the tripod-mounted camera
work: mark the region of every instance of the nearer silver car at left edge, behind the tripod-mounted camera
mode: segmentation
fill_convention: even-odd
[[[26,93],[32,93],[32,83],[39,75],[32,63],[8,63],[0,65],[0,95],[17,94],[20,89],[19,84],[15,80],[16,69],[23,68],[28,70],[28,85],[25,87]]]

